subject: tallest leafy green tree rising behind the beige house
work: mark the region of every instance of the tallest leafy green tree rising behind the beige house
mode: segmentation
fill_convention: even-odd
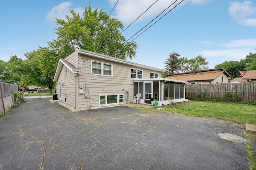
[[[120,30],[124,29],[121,21],[111,18],[102,10],[92,10],[89,5],[83,15],[70,10],[72,17],[67,21],[56,19],[60,25],[56,28],[57,40],[48,42],[60,58],[67,57],[77,49],[85,49],[120,59],[132,59],[138,48],[134,41],[126,42]]]

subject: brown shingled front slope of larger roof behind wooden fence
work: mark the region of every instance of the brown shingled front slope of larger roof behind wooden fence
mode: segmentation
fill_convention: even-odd
[[[168,76],[166,78],[182,80],[182,81],[202,81],[202,80],[207,81],[207,80],[214,80],[216,77],[218,77],[223,72],[224,71],[206,72],[206,73],[201,73],[201,74],[173,75],[173,76]]]

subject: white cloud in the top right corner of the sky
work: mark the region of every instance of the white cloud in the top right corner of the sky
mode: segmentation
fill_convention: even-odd
[[[229,3],[229,14],[240,25],[256,27],[256,6],[252,1],[239,1]]]

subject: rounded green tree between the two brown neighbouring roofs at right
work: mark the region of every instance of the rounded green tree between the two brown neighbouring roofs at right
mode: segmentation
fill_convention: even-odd
[[[240,77],[238,70],[244,70],[244,65],[239,61],[224,61],[221,64],[217,64],[214,68],[224,68],[231,78]]]

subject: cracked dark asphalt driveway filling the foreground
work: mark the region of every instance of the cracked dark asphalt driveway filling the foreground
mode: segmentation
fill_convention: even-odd
[[[31,100],[0,121],[0,169],[249,170],[246,145],[219,134],[246,138],[226,121]]]

